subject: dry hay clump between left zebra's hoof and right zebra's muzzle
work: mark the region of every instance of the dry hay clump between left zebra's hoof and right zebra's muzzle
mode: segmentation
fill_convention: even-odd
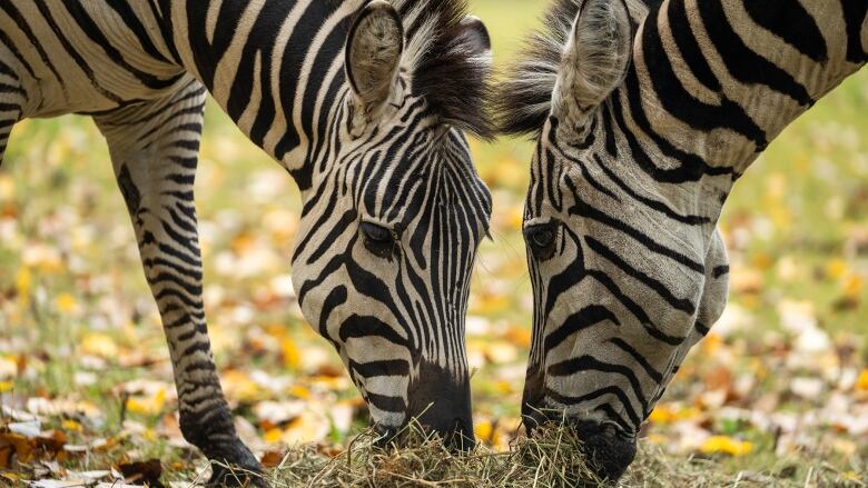
[[[376,447],[376,436],[358,436],[333,458],[315,446],[290,450],[275,468],[275,487],[372,488],[555,488],[575,487],[595,479],[584,464],[571,429],[545,430],[533,439],[520,438],[509,452],[485,446],[462,452],[417,426],[400,441]]]

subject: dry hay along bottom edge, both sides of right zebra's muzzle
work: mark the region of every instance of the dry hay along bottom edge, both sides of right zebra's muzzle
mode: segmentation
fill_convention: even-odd
[[[605,486],[593,477],[580,452],[580,442],[566,428],[540,437],[521,438],[509,452],[476,447],[455,454],[438,439],[417,430],[402,445],[374,447],[375,436],[363,434],[348,449],[329,456],[317,446],[286,454],[269,472],[275,488],[562,488]],[[866,466],[862,466],[866,469]],[[716,460],[671,457],[640,444],[639,455],[618,487],[864,487],[865,475],[829,466],[781,466],[775,472],[732,472]],[[611,484],[610,484],[611,485]],[[611,485],[614,486],[614,485]]]

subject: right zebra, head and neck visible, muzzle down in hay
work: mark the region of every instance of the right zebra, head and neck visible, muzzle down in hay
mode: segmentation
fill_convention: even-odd
[[[717,230],[771,140],[868,61],[868,0],[556,0],[500,86],[535,137],[522,412],[566,419],[601,477],[726,306]]]

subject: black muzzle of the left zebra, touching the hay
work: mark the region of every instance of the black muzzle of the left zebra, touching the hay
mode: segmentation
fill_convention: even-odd
[[[467,451],[474,448],[470,379],[458,378],[440,365],[422,361],[418,375],[408,388],[410,404],[400,427],[376,425],[379,447],[402,445],[410,440],[407,425],[418,426],[425,435],[435,435],[450,448]]]

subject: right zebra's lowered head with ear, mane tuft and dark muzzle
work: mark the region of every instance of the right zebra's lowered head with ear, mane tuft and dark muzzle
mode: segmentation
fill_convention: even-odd
[[[537,136],[523,223],[525,422],[565,418],[608,478],[632,461],[642,421],[728,287],[721,200],[687,198],[673,145],[642,120],[633,32],[647,13],[635,0],[559,0],[497,102],[504,132]]]

